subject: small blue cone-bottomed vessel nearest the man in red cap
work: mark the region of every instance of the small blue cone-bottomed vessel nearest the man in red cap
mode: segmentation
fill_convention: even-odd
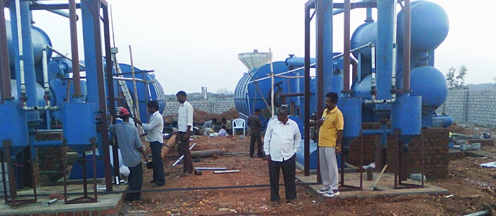
[[[91,147],[96,138],[95,103],[63,103],[62,133],[67,145],[79,154]]]

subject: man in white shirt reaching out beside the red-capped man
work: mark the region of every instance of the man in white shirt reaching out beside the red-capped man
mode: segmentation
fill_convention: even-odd
[[[147,140],[150,142],[153,161],[153,179],[150,183],[155,183],[154,187],[162,187],[165,185],[164,162],[162,161],[161,156],[162,144],[164,144],[164,137],[162,136],[164,118],[162,118],[162,114],[159,113],[159,103],[157,101],[148,102],[147,107],[148,111],[153,113],[150,117],[150,123],[143,124],[137,118],[133,118],[133,120],[148,132]]]

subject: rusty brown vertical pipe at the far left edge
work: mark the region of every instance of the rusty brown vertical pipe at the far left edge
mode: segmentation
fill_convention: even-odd
[[[9,47],[7,47],[7,28],[5,21],[5,2],[0,0],[0,85],[1,103],[12,100],[11,68],[9,65]]]

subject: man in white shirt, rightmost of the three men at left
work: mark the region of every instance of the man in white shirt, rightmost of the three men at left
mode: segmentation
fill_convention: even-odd
[[[191,152],[189,152],[189,136],[193,131],[193,106],[186,99],[186,92],[179,91],[176,93],[177,101],[181,103],[178,110],[176,144],[179,154],[183,158],[183,172],[181,176],[188,176],[193,172],[193,161],[191,160]]]

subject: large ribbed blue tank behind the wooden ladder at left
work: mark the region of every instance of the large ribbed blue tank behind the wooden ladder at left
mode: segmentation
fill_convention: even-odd
[[[119,64],[120,70],[123,73],[130,73],[131,72],[131,66],[129,64]],[[141,72],[141,69],[138,69],[135,67],[135,72]],[[126,78],[133,78],[132,74],[125,74],[124,77]],[[137,81],[136,82],[136,89],[137,89],[137,98],[140,103],[140,118],[143,123],[148,122],[147,118],[147,101],[157,101],[159,103],[159,112],[164,113],[164,108],[165,108],[165,103],[166,103],[166,97],[164,90],[162,89],[162,86],[160,85],[159,81],[155,79],[154,74],[148,74],[148,73],[136,73],[135,74],[136,79],[142,79],[145,81],[153,81],[153,83],[147,83],[145,84],[143,82]],[[128,86],[129,91],[131,92],[131,95],[134,98],[134,85],[133,81],[125,81],[126,85]],[[120,88],[118,86],[114,87],[114,91],[118,92],[120,91]],[[147,94],[148,90],[148,94]],[[148,113],[152,115],[153,113]]]

